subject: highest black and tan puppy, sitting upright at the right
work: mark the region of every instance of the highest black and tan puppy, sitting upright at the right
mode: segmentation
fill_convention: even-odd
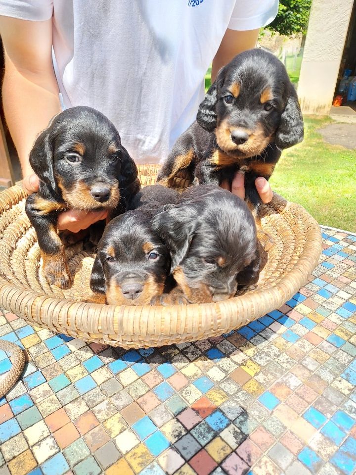
[[[281,150],[303,140],[298,97],[284,65],[273,54],[251,49],[218,73],[199,106],[197,121],[175,143],[158,181],[171,186],[181,169],[200,185],[245,175],[246,200],[260,203],[257,177],[271,176]]]

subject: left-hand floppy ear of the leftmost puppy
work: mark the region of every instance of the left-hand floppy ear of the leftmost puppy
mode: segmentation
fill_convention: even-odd
[[[36,175],[46,185],[56,190],[53,175],[54,143],[50,134],[50,125],[37,137],[30,151],[30,165]]]

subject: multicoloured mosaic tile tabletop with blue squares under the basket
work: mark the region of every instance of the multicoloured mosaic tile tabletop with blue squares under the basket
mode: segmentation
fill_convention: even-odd
[[[1,313],[28,363],[0,400],[0,475],[355,473],[356,237],[323,232],[309,283],[221,337],[127,351]]]

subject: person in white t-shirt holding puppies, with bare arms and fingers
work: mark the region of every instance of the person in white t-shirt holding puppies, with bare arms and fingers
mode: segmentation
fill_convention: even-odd
[[[278,0],[0,0],[3,107],[25,189],[38,189],[36,136],[76,105],[103,112],[137,164],[162,162],[195,120],[209,64],[214,81],[277,11]],[[256,187],[270,201],[264,178]],[[231,191],[244,197],[242,175]],[[105,213],[70,210],[58,226],[78,232]]]

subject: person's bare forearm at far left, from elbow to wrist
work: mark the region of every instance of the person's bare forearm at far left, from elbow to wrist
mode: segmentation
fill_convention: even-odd
[[[35,138],[60,112],[54,72],[21,70],[5,54],[2,100],[23,176],[29,175],[32,172],[29,153]]]

